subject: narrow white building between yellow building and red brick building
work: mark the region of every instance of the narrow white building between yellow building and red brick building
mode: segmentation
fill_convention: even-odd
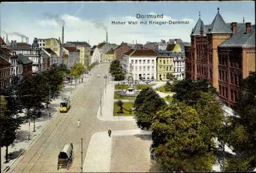
[[[184,52],[174,52],[174,73],[173,75],[177,80],[185,79],[185,53]]]

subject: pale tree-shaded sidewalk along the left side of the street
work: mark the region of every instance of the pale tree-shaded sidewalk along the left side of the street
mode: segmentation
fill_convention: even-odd
[[[93,76],[93,75],[92,75]],[[40,132],[55,118],[58,114],[58,107],[62,97],[70,97],[72,101],[73,94],[82,87],[83,84],[88,83],[91,80],[90,75],[86,75],[86,78],[83,78],[83,82],[79,83],[79,80],[76,82],[72,82],[72,85],[67,81],[64,81],[64,87],[59,97],[52,100],[48,109],[43,111],[51,112],[51,116],[49,113],[42,113],[41,117],[35,119],[35,132],[34,130],[34,121],[25,122],[21,124],[20,129],[16,131],[16,139],[13,144],[8,147],[9,154],[9,162],[5,162],[5,150],[6,147],[1,147],[1,172],[5,172],[9,170],[9,167],[16,161],[16,159],[21,156],[26,148],[35,140],[35,138],[40,134]],[[70,92],[72,90],[72,93]],[[24,113],[19,115],[20,117],[25,116]],[[30,124],[30,126],[29,126]],[[28,136],[30,136],[30,140],[28,140]]]

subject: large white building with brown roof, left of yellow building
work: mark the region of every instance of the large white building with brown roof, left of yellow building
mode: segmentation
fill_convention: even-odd
[[[134,80],[156,80],[157,55],[151,49],[131,49],[123,54],[120,64],[126,77],[131,70]]]

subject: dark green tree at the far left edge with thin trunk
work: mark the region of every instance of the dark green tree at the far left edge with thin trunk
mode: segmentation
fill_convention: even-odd
[[[8,146],[16,138],[16,129],[20,127],[20,119],[13,118],[12,111],[8,110],[8,101],[1,95],[1,147],[6,147],[6,163],[8,162]]]

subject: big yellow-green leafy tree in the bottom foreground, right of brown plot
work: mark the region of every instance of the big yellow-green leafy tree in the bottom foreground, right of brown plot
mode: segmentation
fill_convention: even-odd
[[[154,155],[164,171],[211,171],[215,156],[207,153],[199,114],[175,102],[157,112],[151,126]]]

